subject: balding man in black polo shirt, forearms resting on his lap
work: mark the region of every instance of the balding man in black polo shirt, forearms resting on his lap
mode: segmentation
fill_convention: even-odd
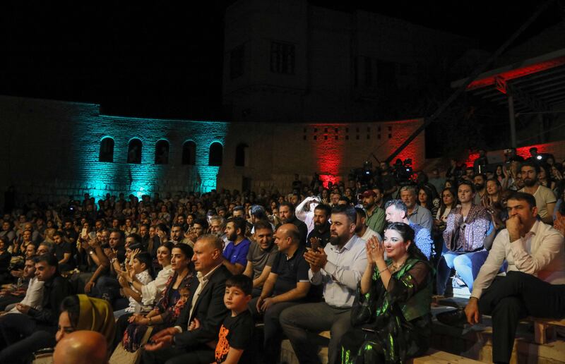
[[[284,224],[275,233],[279,253],[261,296],[249,302],[254,316],[263,315],[265,322],[264,353],[266,363],[277,362],[280,352],[280,313],[311,298],[309,265],[304,260],[304,246],[299,243],[299,231],[293,224]]]

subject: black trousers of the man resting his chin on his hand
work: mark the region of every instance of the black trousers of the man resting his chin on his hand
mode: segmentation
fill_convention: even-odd
[[[479,310],[492,316],[492,361],[509,363],[521,319],[565,317],[565,285],[511,271],[506,277],[496,277],[482,293]]]

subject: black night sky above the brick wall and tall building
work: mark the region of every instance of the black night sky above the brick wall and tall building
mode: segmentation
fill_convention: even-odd
[[[222,110],[225,7],[234,1],[3,1],[0,94],[102,104],[105,114],[229,119]],[[541,1],[316,0],[473,37],[494,51]],[[52,4],[50,4],[52,3]],[[116,2],[118,3],[118,2]],[[376,3],[379,3],[378,6]],[[556,1],[525,37],[563,16]],[[523,37],[524,38],[524,37]],[[519,42],[519,41],[518,41]]]

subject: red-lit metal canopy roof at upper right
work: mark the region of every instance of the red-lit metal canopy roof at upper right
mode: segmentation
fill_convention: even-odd
[[[451,87],[463,82],[454,81]],[[499,105],[507,104],[512,95],[517,113],[549,111],[565,102],[565,49],[482,73],[467,91]]]

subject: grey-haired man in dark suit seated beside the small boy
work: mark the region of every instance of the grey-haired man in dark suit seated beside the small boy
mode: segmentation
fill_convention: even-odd
[[[191,297],[174,327],[155,334],[145,345],[143,363],[212,363],[214,346],[228,310],[224,305],[225,281],[231,276],[222,265],[222,241],[203,235],[194,244],[196,277]]]

